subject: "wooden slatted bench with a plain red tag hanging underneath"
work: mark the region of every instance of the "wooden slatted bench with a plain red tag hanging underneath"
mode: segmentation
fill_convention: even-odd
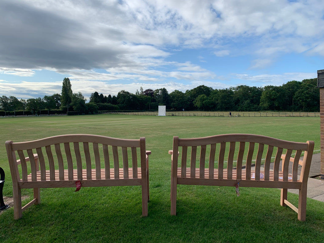
[[[142,215],[149,201],[145,137],[118,139],[70,134],[35,141],[6,141],[13,183],[14,217],[40,203],[40,188],[142,186]],[[17,157],[19,159],[17,160]],[[140,167],[138,167],[138,161]],[[29,163],[27,163],[29,162]],[[34,199],[21,207],[21,189],[33,188]]]

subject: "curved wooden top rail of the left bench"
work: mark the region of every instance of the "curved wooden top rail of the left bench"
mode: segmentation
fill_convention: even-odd
[[[13,150],[27,150],[39,147],[45,147],[53,144],[63,144],[63,143],[98,143],[105,145],[114,145],[120,147],[140,147],[140,139],[121,139],[112,138],[100,135],[90,135],[90,134],[65,134],[52,136],[48,138],[43,138],[39,140],[26,141],[13,143],[12,141],[6,141],[6,143],[12,142]]]

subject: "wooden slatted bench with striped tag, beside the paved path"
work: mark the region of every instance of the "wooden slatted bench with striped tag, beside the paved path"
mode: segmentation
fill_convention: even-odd
[[[305,221],[313,149],[313,141],[297,143],[253,134],[185,139],[174,136],[173,150],[169,151],[172,155],[171,215],[176,215],[178,184],[235,188],[238,182],[239,187],[280,188],[281,205],[291,207],[298,213],[298,219]],[[300,160],[302,153],[304,157]],[[273,170],[270,169],[272,162]],[[288,173],[289,163],[292,173]],[[298,165],[302,166],[300,177],[297,175]],[[287,201],[287,189],[299,189],[298,208]]]

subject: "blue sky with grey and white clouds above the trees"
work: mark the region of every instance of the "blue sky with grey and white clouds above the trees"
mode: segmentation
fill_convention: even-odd
[[[280,86],[324,69],[323,0],[1,0],[0,96]]]

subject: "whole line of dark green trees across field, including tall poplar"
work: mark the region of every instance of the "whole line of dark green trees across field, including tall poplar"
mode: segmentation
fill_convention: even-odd
[[[168,110],[204,111],[318,111],[319,88],[317,78],[289,81],[282,86],[249,87],[240,85],[225,89],[213,89],[201,85],[186,92],[166,88],[146,89],[140,87],[135,94],[125,90],[117,96],[94,92],[86,103],[81,92],[73,93],[69,78],[64,78],[62,93],[43,98],[17,99],[14,96],[0,97],[3,112],[61,110],[97,112],[98,110],[157,110],[165,105]]]

